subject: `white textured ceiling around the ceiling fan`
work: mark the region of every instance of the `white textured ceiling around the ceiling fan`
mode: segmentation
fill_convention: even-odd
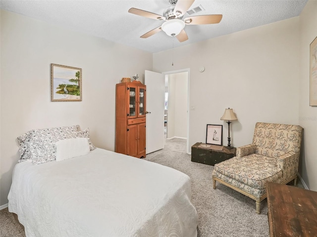
[[[50,24],[158,52],[189,43],[298,16],[307,0],[196,0],[204,11],[192,14],[222,14],[219,24],[186,25],[188,40],[180,43],[163,31],[147,38],[140,36],[159,27],[162,21],[128,13],[129,8],[162,15],[168,0],[1,0],[3,10],[16,12]],[[184,15],[184,18],[189,16]],[[184,19],[183,18],[183,19]]]

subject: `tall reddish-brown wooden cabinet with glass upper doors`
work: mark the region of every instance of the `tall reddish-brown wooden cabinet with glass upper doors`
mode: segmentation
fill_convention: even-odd
[[[146,154],[146,86],[116,84],[115,152],[137,158]]]

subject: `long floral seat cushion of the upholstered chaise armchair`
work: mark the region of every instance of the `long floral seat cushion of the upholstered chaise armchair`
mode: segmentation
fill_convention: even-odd
[[[283,176],[275,158],[258,154],[225,160],[216,164],[214,170],[256,189],[264,189],[266,181],[276,182]]]

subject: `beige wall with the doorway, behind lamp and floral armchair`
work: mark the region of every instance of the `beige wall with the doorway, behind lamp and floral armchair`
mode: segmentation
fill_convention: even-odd
[[[191,36],[188,36],[191,37]],[[298,124],[299,17],[227,36],[154,53],[153,69],[190,68],[189,146],[206,141],[206,125],[223,125],[225,108],[233,108],[231,145],[252,142],[255,123]],[[205,71],[199,72],[204,66]]]

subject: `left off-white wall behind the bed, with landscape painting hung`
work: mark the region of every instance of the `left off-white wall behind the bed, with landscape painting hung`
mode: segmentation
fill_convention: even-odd
[[[7,203],[17,137],[79,124],[97,147],[114,150],[115,84],[152,70],[152,54],[1,10],[0,205]],[[50,64],[82,69],[82,102],[51,102]]]

